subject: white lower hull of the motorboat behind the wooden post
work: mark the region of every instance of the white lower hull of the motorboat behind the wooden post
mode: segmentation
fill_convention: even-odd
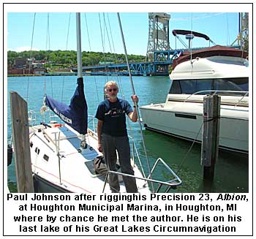
[[[146,129],[185,140],[202,141],[203,103],[146,105],[140,107],[140,112]],[[248,153],[248,134],[248,107],[221,105],[219,148]]]

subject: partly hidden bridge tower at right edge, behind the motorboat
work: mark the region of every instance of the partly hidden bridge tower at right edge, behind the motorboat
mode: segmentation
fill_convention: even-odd
[[[241,50],[247,48],[248,50],[249,41],[249,12],[239,12],[239,29],[238,36],[231,45],[237,43]]]

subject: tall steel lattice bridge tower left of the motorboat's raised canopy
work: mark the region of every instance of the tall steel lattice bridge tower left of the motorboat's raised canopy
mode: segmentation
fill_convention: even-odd
[[[154,61],[154,50],[170,50],[169,20],[167,13],[148,13],[148,61]]]

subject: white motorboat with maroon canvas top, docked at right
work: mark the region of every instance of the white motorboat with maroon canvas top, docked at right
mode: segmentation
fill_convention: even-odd
[[[181,53],[173,62],[165,103],[140,107],[143,124],[173,137],[202,141],[203,98],[221,96],[219,148],[249,151],[248,53],[215,45]]]

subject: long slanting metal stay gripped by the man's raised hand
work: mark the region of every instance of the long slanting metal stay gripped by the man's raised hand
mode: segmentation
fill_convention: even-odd
[[[126,61],[127,61],[127,68],[128,68],[128,72],[129,72],[129,80],[130,80],[130,83],[131,83],[131,86],[132,86],[132,93],[135,94],[135,87],[134,87],[133,81],[132,81],[131,69],[129,68],[127,48],[126,48],[126,45],[125,45],[125,42],[124,42],[124,33],[123,33],[123,29],[121,27],[121,19],[120,19],[120,15],[119,15],[118,12],[117,12],[117,16],[118,16],[118,23],[119,23],[119,27],[120,27],[120,31],[121,31],[121,38],[122,38],[122,42],[123,42],[123,45],[124,45],[124,53],[125,53],[125,58],[126,58]],[[147,152],[146,152],[146,145],[145,145],[145,140],[144,140],[144,137],[143,137],[143,131],[142,131],[142,126],[141,126],[141,122],[140,122],[140,114],[139,114],[137,103],[135,103],[135,109],[137,111],[137,115],[138,115],[138,119],[139,119],[138,123],[140,125],[140,134],[141,134],[141,137],[142,137],[142,143],[143,143],[144,153],[145,153],[145,156],[146,156],[146,162],[148,164],[148,178],[152,178],[151,177],[151,167],[150,167],[149,160],[148,160],[148,155],[147,155]],[[151,182],[151,186],[152,186],[152,189],[154,191],[154,185],[153,185],[152,182]]]

